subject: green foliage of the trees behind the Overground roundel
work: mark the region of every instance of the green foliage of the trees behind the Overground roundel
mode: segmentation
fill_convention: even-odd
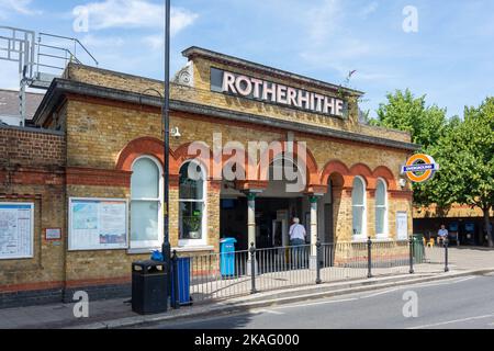
[[[453,203],[484,212],[494,207],[494,97],[465,107],[463,121],[448,121],[446,110],[426,106],[425,97],[415,98],[409,90],[386,98],[371,124],[409,132],[420,151],[440,166],[431,180],[413,185],[414,202],[445,210]]]

